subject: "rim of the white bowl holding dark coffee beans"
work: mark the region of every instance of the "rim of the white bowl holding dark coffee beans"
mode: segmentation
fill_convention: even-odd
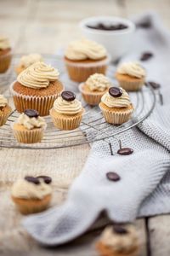
[[[128,27],[122,30],[114,30],[114,31],[105,31],[105,30],[101,30],[101,29],[94,29],[94,28],[90,28],[87,25],[90,22],[94,22],[94,21],[118,21],[118,22],[122,22],[124,24],[126,24]],[[91,16],[85,19],[82,19],[79,22],[79,27],[88,32],[88,33],[93,33],[93,34],[105,34],[105,35],[120,35],[120,34],[126,34],[129,32],[134,32],[135,31],[135,24],[133,23],[133,21],[131,20],[127,20],[126,18],[122,18],[122,17],[117,17],[117,16]]]

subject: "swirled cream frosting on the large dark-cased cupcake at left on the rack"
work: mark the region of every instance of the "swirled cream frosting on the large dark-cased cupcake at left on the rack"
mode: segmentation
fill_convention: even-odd
[[[26,87],[42,89],[48,87],[50,82],[56,81],[58,78],[57,69],[39,61],[22,71],[17,81]]]

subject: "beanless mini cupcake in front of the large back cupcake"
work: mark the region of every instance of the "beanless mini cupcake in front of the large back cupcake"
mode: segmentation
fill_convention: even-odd
[[[111,87],[111,81],[101,73],[94,73],[79,85],[82,97],[89,105],[98,105],[101,97]]]

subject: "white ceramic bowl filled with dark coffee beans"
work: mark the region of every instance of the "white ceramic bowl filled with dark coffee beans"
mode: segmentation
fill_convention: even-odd
[[[105,31],[93,29],[87,26],[95,26],[99,23],[103,23],[105,25],[116,25],[117,23],[122,23],[123,25],[127,25],[127,28],[115,31]],[[96,16],[82,20],[79,25],[82,30],[82,35],[85,38],[94,40],[105,46],[111,55],[112,61],[116,61],[130,49],[130,45],[133,40],[133,32],[135,31],[135,25],[130,20],[112,16]]]

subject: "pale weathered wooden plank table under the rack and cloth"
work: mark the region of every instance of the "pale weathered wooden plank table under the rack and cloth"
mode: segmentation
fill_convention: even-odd
[[[15,53],[56,53],[73,38],[79,38],[77,23],[91,15],[129,17],[154,9],[170,28],[169,0],[1,0],[0,34],[7,35]],[[54,201],[65,199],[67,188],[82,170],[89,145],[68,149],[23,150],[0,148],[0,255],[94,256],[94,230],[69,245],[53,250],[39,247],[20,227],[21,216],[10,201],[10,186],[26,174],[47,174],[54,178]],[[67,171],[64,175],[63,170]],[[136,221],[141,240],[140,256],[169,256],[170,216]]]

